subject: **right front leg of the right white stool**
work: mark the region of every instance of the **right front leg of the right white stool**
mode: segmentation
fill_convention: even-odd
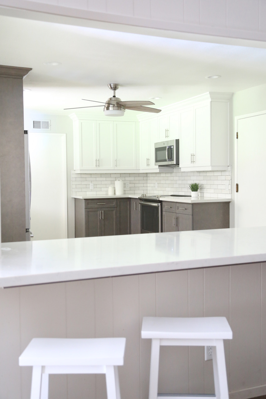
[[[216,340],[212,348],[212,365],[216,398],[229,399],[223,340]]]

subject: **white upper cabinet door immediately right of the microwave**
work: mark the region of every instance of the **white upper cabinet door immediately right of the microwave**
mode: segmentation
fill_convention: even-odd
[[[193,108],[180,112],[180,167],[193,166],[194,111]]]

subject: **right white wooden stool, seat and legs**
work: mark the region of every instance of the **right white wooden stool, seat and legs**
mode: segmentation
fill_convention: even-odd
[[[225,317],[143,317],[142,338],[151,338],[151,368],[149,399],[169,399],[158,395],[160,345],[212,346],[215,395],[170,395],[179,399],[215,397],[228,399],[228,386],[224,358],[224,339],[232,339],[232,330]]]

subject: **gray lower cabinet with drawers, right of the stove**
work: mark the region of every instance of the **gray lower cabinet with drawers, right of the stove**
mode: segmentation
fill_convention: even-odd
[[[226,229],[229,202],[175,203],[163,201],[163,232]]]

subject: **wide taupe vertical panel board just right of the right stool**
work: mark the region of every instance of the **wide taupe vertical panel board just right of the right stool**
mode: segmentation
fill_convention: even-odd
[[[261,264],[230,267],[230,391],[261,385]]]

